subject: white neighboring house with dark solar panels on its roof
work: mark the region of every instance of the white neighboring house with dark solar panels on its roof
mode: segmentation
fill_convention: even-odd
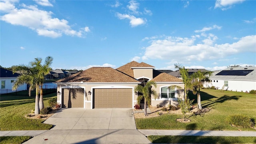
[[[215,86],[218,89],[238,92],[256,90],[256,67],[233,67],[212,73],[211,83],[205,87]]]

